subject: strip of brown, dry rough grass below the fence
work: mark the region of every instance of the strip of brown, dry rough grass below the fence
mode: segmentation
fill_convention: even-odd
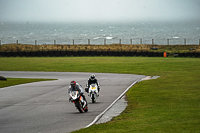
[[[153,50],[152,48],[157,48]],[[0,52],[30,52],[30,51],[131,51],[131,52],[200,52],[200,45],[149,45],[149,44],[110,44],[110,45],[30,45],[5,44],[0,45]]]

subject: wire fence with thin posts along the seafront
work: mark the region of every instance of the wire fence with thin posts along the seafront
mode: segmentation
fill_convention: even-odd
[[[200,45],[200,39],[186,39],[186,38],[171,38],[171,39],[62,39],[62,40],[0,40],[0,45],[3,44],[93,44],[93,45],[105,45],[105,44],[152,44],[152,45]]]

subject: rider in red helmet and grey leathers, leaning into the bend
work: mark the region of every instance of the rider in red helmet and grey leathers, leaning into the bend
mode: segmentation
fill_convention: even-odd
[[[70,91],[78,91],[80,93],[80,95],[83,97],[83,99],[86,101],[86,105],[87,105],[87,100],[86,100],[85,96],[83,95],[83,88],[81,87],[81,85],[76,83],[76,81],[74,81],[74,80],[70,82],[70,86],[68,89],[69,95],[70,95]],[[70,96],[69,96],[69,101],[71,101]]]

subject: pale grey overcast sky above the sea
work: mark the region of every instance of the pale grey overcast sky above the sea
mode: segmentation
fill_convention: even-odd
[[[200,19],[200,0],[0,0],[0,22],[190,19]]]

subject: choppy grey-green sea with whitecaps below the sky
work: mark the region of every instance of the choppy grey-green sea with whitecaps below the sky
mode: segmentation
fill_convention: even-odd
[[[0,22],[1,44],[199,44],[200,21]],[[37,41],[35,41],[37,40]],[[55,40],[55,41],[54,41]]]

